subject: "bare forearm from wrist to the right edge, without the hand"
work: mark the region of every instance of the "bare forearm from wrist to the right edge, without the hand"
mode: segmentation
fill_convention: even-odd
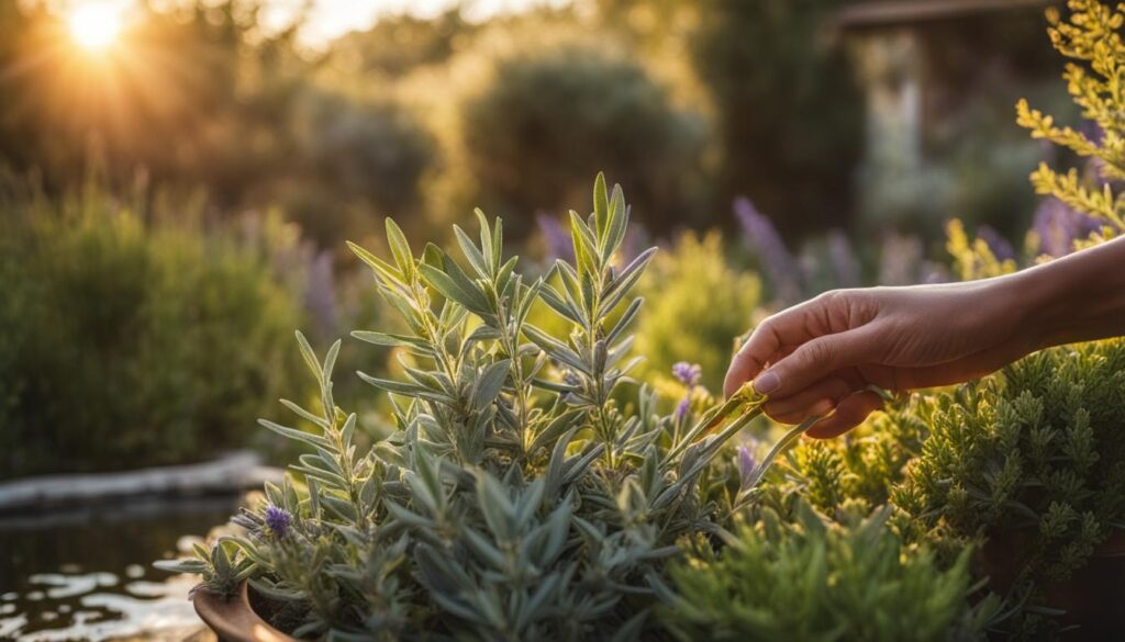
[[[1033,350],[1125,335],[1125,237],[998,281]]]

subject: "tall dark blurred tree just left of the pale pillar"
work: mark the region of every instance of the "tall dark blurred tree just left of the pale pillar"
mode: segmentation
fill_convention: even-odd
[[[862,101],[824,21],[840,0],[708,0],[692,38],[716,108],[720,193],[748,196],[783,234],[850,215]]]

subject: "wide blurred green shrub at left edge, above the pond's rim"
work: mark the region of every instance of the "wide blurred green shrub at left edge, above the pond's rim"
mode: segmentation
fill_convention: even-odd
[[[300,320],[267,256],[190,226],[146,226],[100,192],[3,208],[0,477],[245,443],[288,380],[284,346]]]

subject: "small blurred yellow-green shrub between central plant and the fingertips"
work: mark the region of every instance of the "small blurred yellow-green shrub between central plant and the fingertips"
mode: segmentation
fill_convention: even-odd
[[[646,371],[698,363],[706,388],[721,390],[735,337],[753,323],[759,291],[755,274],[728,266],[718,233],[681,236],[641,283],[648,309],[637,328],[637,353]]]

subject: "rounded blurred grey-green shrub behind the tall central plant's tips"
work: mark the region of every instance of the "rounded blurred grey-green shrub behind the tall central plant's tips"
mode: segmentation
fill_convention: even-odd
[[[510,214],[516,235],[538,210],[564,210],[598,168],[621,178],[657,232],[694,198],[702,121],[677,110],[644,66],[585,46],[510,55],[460,107],[474,202]]]

